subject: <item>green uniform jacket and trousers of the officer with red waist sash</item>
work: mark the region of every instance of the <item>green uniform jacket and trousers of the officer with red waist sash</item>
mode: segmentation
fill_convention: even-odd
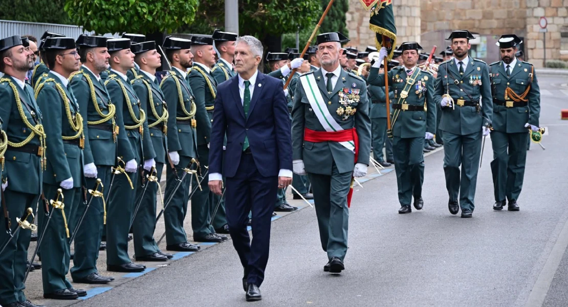
[[[325,100],[333,120],[344,129],[356,128],[359,138],[358,159],[354,153],[339,142],[304,141],[306,128],[325,131],[304,91],[303,76],[312,74],[318,89]],[[293,159],[303,160],[310,178],[316,215],[320,232],[321,247],[328,258],[339,257],[342,261],[347,253],[348,207],[347,195],[355,163],[369,164],[371,150],[371,122],[369,119],[369,100],[365,81],[354,74],[340,70],[333,91],[329,93],[321,69],[306,73],[298,78],[292,109],[292,149]],[[340,99],[345,90],[359,91],[359,97],[352,100]],[[341,102],[340,102],[341,100]],[[349,108],[349,109],[348,109]],[[341,112],[343,110],[343,112]],[[346,113],[346,110],[351,110]],[[353,111],[355,110],[355,111]],[[341,114],[341,115],[340,115]],[[333,180],[332,180],[333,178]]]

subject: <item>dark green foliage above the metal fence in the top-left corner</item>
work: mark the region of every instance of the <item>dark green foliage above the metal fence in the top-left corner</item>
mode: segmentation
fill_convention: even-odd
[[[0,0],[0,19],[72,24],[63,11],[64,3],[65,0]]]

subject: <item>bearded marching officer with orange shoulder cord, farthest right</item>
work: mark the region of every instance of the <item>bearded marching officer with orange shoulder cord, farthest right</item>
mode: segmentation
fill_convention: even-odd
[[[538,131],[540,89],[534,67],[516,58],[522,43],[514,34],[503,35],[496,43],[501,61],[489,65],[493,94],[493,161],[491,173],[495,189],[494,210],[519,211],[517,199],[523,187],[529,131]]]

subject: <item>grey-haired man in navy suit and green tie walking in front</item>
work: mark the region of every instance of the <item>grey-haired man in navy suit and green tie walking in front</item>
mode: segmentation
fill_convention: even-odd
[[[244,267],[247,301],[262,297],[270,243],[270,220],[278,188],[292,183],[290,117],[282,82],[258,72],[262,44],[252,36],[237,40],[237,76],[218,87],[211,127],[209,187],[222,194],[227,178],[225,209],[229,234]],[[223,137],[227,150],[223,158]],[[252,211],[253,240],[247,231]]]

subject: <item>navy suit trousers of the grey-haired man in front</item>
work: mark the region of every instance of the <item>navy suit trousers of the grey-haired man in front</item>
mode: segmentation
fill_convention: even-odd
[[[248,272],[248,283],[258,287],[264,280],[268,263],[270,222],[277,188],[278,176],[262,176],[252,154],[243,153],[236,175],[227,178],[225,209],[229,233],[241,264]],[[247,231],[249,212],[252,212],[252,242]]]

